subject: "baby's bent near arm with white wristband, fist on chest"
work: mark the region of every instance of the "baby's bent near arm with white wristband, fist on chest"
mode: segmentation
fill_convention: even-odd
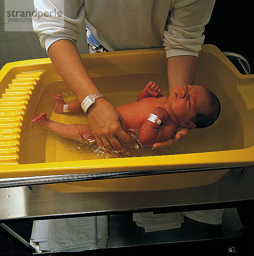
[[[161,124],[146,120],[140,128],[139,142],[143,145],[153,145],[156,142],[161,142],[169,139],[175,132],[176,127],[166,124],[169,119],[169,114],[164,108],[157,107],[152,112],[161,119]]]

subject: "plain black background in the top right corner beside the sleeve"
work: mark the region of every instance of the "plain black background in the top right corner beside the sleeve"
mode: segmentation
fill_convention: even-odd
[[[253,1],[216,0],[204,44],[214,44],[222,52],[235,52],[247,59],[251,74],[253,61]]]

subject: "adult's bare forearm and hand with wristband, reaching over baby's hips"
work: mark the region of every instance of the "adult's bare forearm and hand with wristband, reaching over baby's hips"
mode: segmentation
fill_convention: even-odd
[[[99,90],[89,77],[76,45],[68,40],[55,41],[48,49],[49,57],[60,76],[78,97],[79,102],[88,94]],[[85,113],[84,113],[85,114]],[[124,131],[125,125],[121,114],[107,100],[95,99],[95,103],[87,110],[88,119],[98,145],[107,151],[120,151],[128,154],[136,144]]]

